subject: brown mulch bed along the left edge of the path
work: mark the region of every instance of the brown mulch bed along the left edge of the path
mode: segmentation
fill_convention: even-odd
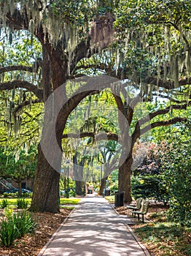
[[[70,209],[61,209],[58,214],[51,213],[34,213],[34,219],[38,226],[35,233],[27,234],[20,239],[15,240],[14,244],[9,247],[0,246],[1,256],[36,256],[42,247],[49,241],[55,230],[69,216]]]

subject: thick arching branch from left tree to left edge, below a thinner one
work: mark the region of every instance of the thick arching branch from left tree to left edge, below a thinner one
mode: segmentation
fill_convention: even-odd
[[[34,86],[34,84],[29,83],[27,81],[14,80],[7,83],[0,83],[0,91],[12,90],[17,88],[23,88],[28,91],[32,91],[36,95],[36,97],[38,97],[40,100],[43,100],[42,89],[38,89],[36,86]]]

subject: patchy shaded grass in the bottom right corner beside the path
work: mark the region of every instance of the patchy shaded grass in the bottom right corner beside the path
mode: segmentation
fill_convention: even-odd
[[[191,255],[191,230],[186,227],[172,222],[156,222],[138,227],[135,232],[145,244],[162,249],[163,256]]]

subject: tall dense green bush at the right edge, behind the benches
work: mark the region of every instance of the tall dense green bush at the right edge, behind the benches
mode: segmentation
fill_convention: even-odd
[[[191,147],[189,131],[185,131],[184,140],[171,138],[160,151],[163,162],[163,173],[165,174],[165,186],[168,188],[170,200],[168,219],[179,222],[182,226],[191,227]]]

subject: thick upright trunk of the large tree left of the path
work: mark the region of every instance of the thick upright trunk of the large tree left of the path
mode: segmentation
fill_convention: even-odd
[[[55,50],[53,56],[53,53],[48,53],[47,48],[43,45],[44,127],[42,139],[38,147],[38,164],[34,179],[31,211],[49,211],[52,213],[59,211],[59,181],[62,160],[61,141],[66,124],[66,116],[62,112],[60,113],[62,118],[60,118],[58,113],[63,106],[62,102],[65,94],[54,93],[50,97],[51,87],[55,90],[65,81],[66,70],[61,65],[59,66],[61,56],[57,54],[58,52],[60,53],[60,50]],[[51,62],[52,59],[54,63]],[[54,77],[54,80],[52,80],[52,77]]]

